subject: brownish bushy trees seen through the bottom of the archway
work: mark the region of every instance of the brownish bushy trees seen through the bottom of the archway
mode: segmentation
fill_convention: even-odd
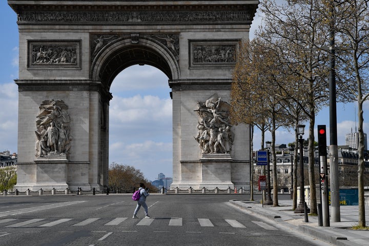
[[[133,193],[139,183],[145,183],[151,190],[155,187],[144,177],[144,174],[133,166],[120,165],[113,162],[109,167],[109,187],[114,193]]]

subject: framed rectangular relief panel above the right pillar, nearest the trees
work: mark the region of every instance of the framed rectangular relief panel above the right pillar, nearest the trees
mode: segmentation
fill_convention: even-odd
[[[239,39],[189,40],[190,68],[233,68]]]

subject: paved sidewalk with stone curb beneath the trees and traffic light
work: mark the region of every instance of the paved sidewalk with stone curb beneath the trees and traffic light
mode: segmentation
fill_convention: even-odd
[[[318,216],[309,216],[309,222],[304,222],[304,214],[295,214],[292,210],[292,200],[279,200],[279,207],[262,207],[260,201],[230,200],[230,203],[333,245],[369,246],[368,230],[351,229],[358,224],[358,206],[341,206],[341,222],[330,221],[330,227],[319,227]],[[365,222],[366,226],[369,226],[369,207],[365,207]]]

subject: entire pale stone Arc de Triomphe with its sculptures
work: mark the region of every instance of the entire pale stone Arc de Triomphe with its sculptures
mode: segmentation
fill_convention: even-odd
[[[110,85],[169,78],[172,187],[250,183],[250,129],[229,119],[239,41],[258,1],[8,0],[19,29],[18,191],[108,186]]]

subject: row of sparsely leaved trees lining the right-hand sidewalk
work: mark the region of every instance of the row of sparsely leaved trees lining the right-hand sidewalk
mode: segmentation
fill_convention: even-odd
[[[263,25],[253,40],[240,45],[231,91],[233,120],[272,135],[273,170],[276,170],[275,132],[293,129],[294,209],[297,207],[296,127],[309,122],[309,183],[314,171],[315,115],[327,106],[331,69],[337,75],[337,100],[357,101],[359,132],[359,225],[365,226],[363,192],[363,103],[369,96],[368,0],[261,1]],[[332,35],[334,34],[334,35]],[[336,41],[336,43],[335,43]],[[337,49],[339,47],[339,49]],[[337,49],[337,52],[332,50]],[[330,56],[335,56],[332,64]],[[332,74],[331,74],[332,75]],[[277,174],[273,172],[273,206],[278,206]],[[311,186],[311,213],[317,213],[316,189]]]

